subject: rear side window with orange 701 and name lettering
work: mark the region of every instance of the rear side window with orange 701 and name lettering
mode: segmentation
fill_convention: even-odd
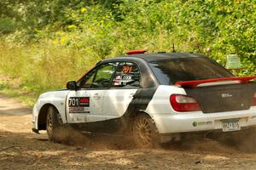
[[[140,86],[140,71],[136,64],[122,62],[113,77],[113,88],[137,88]]]

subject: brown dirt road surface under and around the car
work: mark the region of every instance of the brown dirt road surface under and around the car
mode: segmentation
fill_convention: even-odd
[[[256,169],[256,145],[189,139],[165,150],[140,150],[122,139],[84,137],[55,144],[31,132],[32,110],[0,94],[0,169]],[[76,137],[74,137],[76,138]]]

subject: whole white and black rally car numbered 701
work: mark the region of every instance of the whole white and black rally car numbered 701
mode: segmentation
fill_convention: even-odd
[[[144,54],[105,59],[67,89],[41,94],[33,132],[71,126],[83,133],[131,135],[150,147],[183,133],[238,131],[256,125],[256,77],[234,77],[201,54]],[[64,129],[64,128],[63,128]]]

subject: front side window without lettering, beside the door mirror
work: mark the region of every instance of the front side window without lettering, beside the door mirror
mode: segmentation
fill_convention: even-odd
[[[108,88],[118,63],[97,66],[79,84],[80,88]]]

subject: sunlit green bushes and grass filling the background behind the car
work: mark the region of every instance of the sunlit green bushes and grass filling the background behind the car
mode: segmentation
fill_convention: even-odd
[[[256,73],[253,0],[3,0],[0,8],[0,70],[38,93],[98,60],[135,48],[172,51],[172,43],[222,65],[236,53],[244,67],[237,74]]]

